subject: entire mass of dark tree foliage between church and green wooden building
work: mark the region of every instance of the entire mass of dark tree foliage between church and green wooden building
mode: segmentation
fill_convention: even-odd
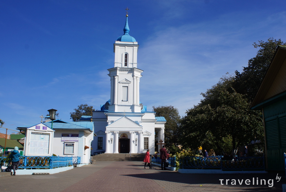
[[[261,111],[250,110],[250,104],[260,87],[281,39],[254,43],[260,47],[256,57],[249,59],[240,73],[228,75],[201,93],[198,105],[187,111],[181,121],[181,143],[196,149],[224,149],[233,151],[252,140],[264,143]]]

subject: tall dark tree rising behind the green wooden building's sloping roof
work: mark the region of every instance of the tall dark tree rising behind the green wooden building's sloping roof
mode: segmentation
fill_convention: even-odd
[[[256,96],[278,45],[286,45],[286,43],[281,41],[281,39],[276,40],[273,38],[269,38],[266,42],[261,40],[258,43],[254,43],[253,46],[255,48],[260,47],[256,57],[249,59],[248,66],[243,67],[241,73],[235,71],[234,88],[238,93],[246,95],[250,102]]]

